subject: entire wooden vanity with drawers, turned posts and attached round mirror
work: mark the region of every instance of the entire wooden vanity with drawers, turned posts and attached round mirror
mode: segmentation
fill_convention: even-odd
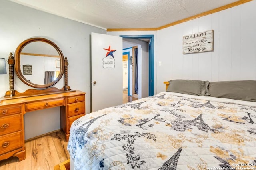
[[[0,98],[0,160],[16,156],[21,161],[26,158],[24,114],[60,107],[60,126],[68,141],[72,122],[85,115],[85,93],[70,89],[68,60],[45,38],[24,40],[15,50],[15,60],[10,53],[8,64],[10,90]],[[14,66],[18,78],[34,89],[14,90]],[[32,68],[38,69],[36,74]],[[54,87],[63,75],[63,88]]]

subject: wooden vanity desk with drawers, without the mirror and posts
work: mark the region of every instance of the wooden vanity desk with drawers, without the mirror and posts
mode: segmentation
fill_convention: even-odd
[[[24,114],[60,106],[60,126],[69,138],[74,120],[85,115],[85,93],[79,90],[40,96],[19,96],[0,102],[0,160],[17,156],[26,158]]]

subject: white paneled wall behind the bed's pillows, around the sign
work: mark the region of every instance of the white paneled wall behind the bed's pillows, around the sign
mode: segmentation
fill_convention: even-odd
[[[111,35],[155,34],[155,94],[164,81],[256,80],[256,1],[156,32],[107,32]],[[182,37],[214,30],[214,51],[182,53]],[[162,66],[158,66],[158,61]]]

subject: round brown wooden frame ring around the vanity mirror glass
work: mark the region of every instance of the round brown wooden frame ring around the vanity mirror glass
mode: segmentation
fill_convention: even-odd
[[[44,85],[40,85],[40,84],[34,84],[30,81],[28,81],[22,74],[21,72],[21,69],[20,69],[20,54],[21,54],[21,51],[22,49],[29,43],[32,43],[32,42],[45,42],[47,44],[50,44],[52,47],[55,48],[55,50],[58,52],[59,56],[60,56],[60,74],[58,75],[58,77],[48,83],[48,84],[44,84]],[[48,88],[50,86],[53,86],[54,84],[56,84],[63,76],[63,73],[64,73],[64,57],[63,57],[63,54],[60,50],[60,48],[54,44],[54,42],[50,41],[50,40],[47,40],[45,38],[40,38],[40,37],[36,37],[36,38],[30,38],[28,40],[25,40],[23,41],[22,43],[20,43],[20,45],[16,48],[15,50],[15,54],[14,54],[14,57],[15,57],[15,71],[16,71],[16,74],[17,76],[20,78],[20,80],[22,82],[24,82],[25,84],[27,84],[28,86],[31,86],[31,87],[34,87],[34,88]]]

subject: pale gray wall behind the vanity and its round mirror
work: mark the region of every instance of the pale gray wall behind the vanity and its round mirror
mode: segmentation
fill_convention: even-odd
[[[86,113],[90,112],[90,34],[106,34],[106,30],[41,12],[7,0],[0,0],[0,56],[8,60],[9,52],[32,37],[47,38],[57,44],[68,58],[68,85],[86,92]],[[8,69],[8,64],[6,65]],[[15,74],[15,90],[23,92],[25,85]],[[62,88],[64,79],[55,86]],[[9,90],[9,75],[0,75],[0,96]],[[59,108],[25,114],[25,138],[60,128]],[[43,119],[43,118],[44,119]],[[54,120],[55,124],[49,121]]]

